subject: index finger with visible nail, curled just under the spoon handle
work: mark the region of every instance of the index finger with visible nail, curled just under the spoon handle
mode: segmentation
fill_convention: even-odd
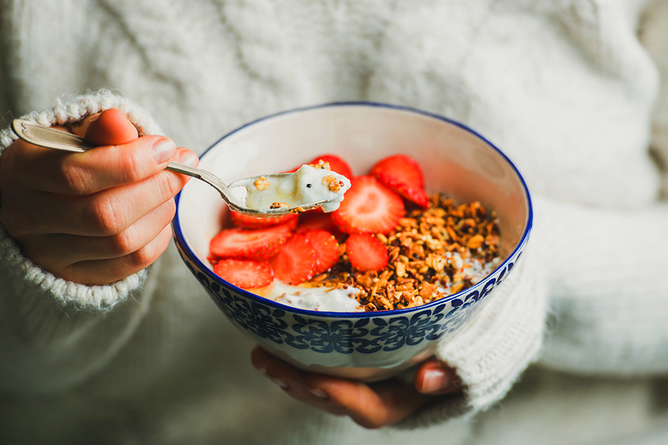
[[[151,177],[163,170],[177,152],[174,142],[161,136],[144,136],[128,144],[99,146],[84,153],[44,149],[22,141],[13,148],[12,167],[27,172],[18,178],[23,186],[73,196]]]

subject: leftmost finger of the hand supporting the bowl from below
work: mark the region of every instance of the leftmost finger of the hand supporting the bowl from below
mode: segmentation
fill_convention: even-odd
[[[250,362],[258,371],[265,374],[283,391],[300,402],[338,416],[344,414],[340,406],[332,404],[328,397],[322,397],[307,388],[304,384],[304,378],[308,374],[305,371],[290,366],[290,364],[274,357],[259,346],[255,346],[250,352]]]

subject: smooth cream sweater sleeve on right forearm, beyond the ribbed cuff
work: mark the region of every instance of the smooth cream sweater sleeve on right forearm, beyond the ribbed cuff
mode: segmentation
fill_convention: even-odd
[[[602,210],[538,200],[549,266],[540,363],[577,374],[668,373],[668,203]]]

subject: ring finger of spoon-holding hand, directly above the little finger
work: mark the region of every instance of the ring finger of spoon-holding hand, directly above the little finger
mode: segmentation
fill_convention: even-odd
[[[20,246],[27,257],[47,271],[58,271],[80,261],[119,258],[136,252],[156,238],[170,224],[175,208],[174,200],[168,200],[112,236],[49,233],[20,240]]]

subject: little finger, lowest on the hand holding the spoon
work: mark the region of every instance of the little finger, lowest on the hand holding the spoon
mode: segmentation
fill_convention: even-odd
[[[166,226],[154,240],[132,254],[115,259],[81,261],[56,275],[86,286],[109,285],[133,273],[138,273],[154,263],[167,249],[171,238],[171,226]]]

